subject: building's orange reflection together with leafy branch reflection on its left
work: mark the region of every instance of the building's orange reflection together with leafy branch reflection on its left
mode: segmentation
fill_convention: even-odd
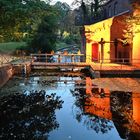
[[[75,89],[72,95],[78,107],[75,117],[78,122],[97,133],[111,130],[113,120],[122,139],[140,139],[140,95],[131,92],[110,92],[93,88],[92,80],[86,78],[86,89]]]

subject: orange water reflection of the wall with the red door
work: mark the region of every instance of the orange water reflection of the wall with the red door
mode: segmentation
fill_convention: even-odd
[[[93,88],[92,89],[92,80],[87,77],[86,78],[86,94],[90,96],[87,99],[89,105],[85,106],[85,112],[97,115],[101,118],[106,118],[108,120],[112,119],[112,114],[110,111],[110,98],[105,97],[101,98],[100,94],[109,93],[107,89],[99,89]]]

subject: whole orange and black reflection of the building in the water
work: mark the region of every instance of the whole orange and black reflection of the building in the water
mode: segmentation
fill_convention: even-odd
[[[140,138],[138,93],[93,87],[89,77],[86,78],[85,93],[87,98],[83,103],[83,114],[112,120],[122,139],[138,140]]]

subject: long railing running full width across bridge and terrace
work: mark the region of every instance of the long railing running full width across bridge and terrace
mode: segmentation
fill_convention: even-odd
[[[95,70],[140,70],[140,59],[129,58],[111,58],[111,59],[93,59],[91,55],[84,54],[31,54],[30,56],[9,56],[0,55],[0,65],[9,64],[13,61],[17,63],[41,62],[57,64],[80,64],[91,65]]]

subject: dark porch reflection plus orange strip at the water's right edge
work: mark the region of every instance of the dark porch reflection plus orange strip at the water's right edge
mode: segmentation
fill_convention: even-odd
[[[123,139],[140,139],[140,97],[131,92],[111,92],[114,124]]]

